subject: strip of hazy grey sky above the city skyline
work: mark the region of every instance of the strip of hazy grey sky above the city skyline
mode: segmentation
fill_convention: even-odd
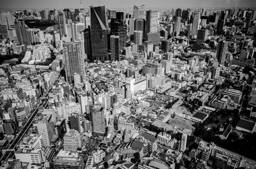
[[[80,0],[0,0],[0,8],[79,8]],[[98,0],[82,0],[83,8],[97,6]],[[256,0],[101,0],[107,8],[132,8],[134,4],[145,7],[196,8],[196,7],[251,7]]]

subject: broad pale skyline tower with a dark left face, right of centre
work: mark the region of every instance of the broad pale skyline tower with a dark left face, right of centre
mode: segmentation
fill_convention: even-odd
[[[148,10],[146,14],[146,33],[157,33],[158,17],[156,10]]]

